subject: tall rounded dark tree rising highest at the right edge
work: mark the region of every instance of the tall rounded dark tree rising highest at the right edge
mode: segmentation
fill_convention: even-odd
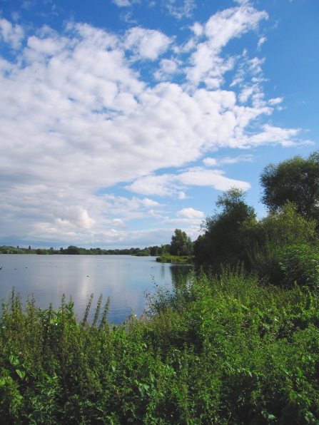
[[[280,210],[289,200],[304,217],[319,219],[319,151],[307,159],[297,155],[277,165],[267,165],[260,174],[260,185],[261,201],[270,210]]]

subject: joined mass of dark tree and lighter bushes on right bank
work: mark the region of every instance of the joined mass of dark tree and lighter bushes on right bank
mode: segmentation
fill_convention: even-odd
[[[317,222],[307,220],[289,202],[256,220],[244,195],[241,190],[231,189],[220,197],[231,206],[222,204],[221,213],[206,219],[206,232],[194,244],[196,264],[213,274],[220,274],[227,265],[243,264],[247,272],[253,272],[265,284],[291,287],[296,281],[299,285],[318,285]]]

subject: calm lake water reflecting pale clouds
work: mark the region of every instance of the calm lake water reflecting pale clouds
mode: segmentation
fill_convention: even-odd
[[[111,305],[108,321],[118,324],[129,314],[141,314],[146,299],[143,292],[152,292],[156,282],[171,287],[179,272],[191,270],[187,265],[170,265],[156,262],[155,257],[131,255],[0,255],[0,299],[12,287],[25,302],[34,294],[36,305],[54,309],[72,296],[74,309],[81,319],[91,293],[94,294],[90,317],[93,317],[98,296],[103,303],[108,296]],[[89,317],[89,318],[90,318]]]

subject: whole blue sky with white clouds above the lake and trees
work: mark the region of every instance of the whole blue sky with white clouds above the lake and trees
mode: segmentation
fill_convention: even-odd
[[[0,245],[196,240],[318,149],[318,0],[0,0]]]

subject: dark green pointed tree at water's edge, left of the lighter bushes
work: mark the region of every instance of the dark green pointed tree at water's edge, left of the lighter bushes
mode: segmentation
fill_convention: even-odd
[[[216,206],[221,211],[203,222],[205,234],[196,240],[194,254],[197,264],[209,265],[214,273],[219,273],[223,265],[249,262],[245,231],[248,223],[256,220],[255,210],[245,203],[244,190],[227,190],[218,196]]]

